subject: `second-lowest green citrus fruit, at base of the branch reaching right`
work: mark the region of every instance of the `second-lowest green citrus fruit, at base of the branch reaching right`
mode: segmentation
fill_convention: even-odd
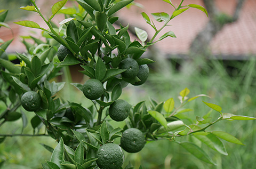
[[[121,147],[127,152],[139,152],[145,146],[145,136],[137,128],[129,128],[123,132]]]

